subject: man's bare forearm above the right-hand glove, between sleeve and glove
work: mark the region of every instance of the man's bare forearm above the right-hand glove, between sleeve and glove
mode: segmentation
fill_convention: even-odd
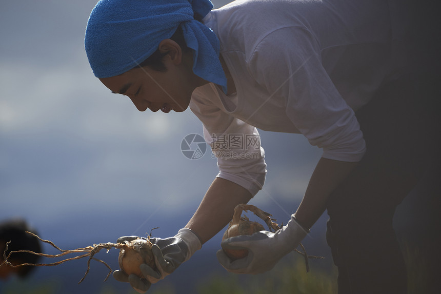
[[[304,198],[295,218],[305,228],[310,228],[326,209],[331,192],[342,183],[357,162],[344,162],[322,158],[312,173]]]

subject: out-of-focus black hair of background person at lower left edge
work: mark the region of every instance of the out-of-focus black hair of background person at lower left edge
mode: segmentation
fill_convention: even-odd
[[[26,233],[26,231],[36,234],[36,231],[30,228],[26,221],[23,219],[8,220],[0,223],[0,248],[6,248],[6,243],[11,241],[8,244],[6,257],[11,251],[30,250],[35,253],[42,252],[42,248],[38,239]],[[0,252],[0,259],[2,260],[3,253],[4,252]],[[32,253],[15,252],[11,254],[10,259],[17,260],[23,263],[36,264],[40,257]],[[33,269],[34,266],[18,267],[17,276],[19,278],[26,278]]]

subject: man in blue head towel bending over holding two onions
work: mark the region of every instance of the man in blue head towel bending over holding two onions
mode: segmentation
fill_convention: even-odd
[[[231,220],[264,184],[264,151],[222,150],[218,140],[258,138],[260,128],[302,133],[324,153],[288,224],[225,240],[224,248],[250,253],[231,261],[219,250],[219,262],[236,273],[270,270],[327,209],[339,293],[405,292],[392,218],[435,150],[437,121],[433,80],[420,56],[408,55],[412,26],[398,2],[248,0],[211,8],[204,0],[103,0],[89,18],[85,46],[95,76],[140,111],[190,106],[218,155],[219,174],[189,223],[172,238],[153,239],[158,271],[141,265],[145,279],[114,277],[146,291]]]

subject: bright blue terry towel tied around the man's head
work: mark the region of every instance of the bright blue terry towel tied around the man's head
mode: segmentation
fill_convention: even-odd
[[[227,92],[219,40],[195,21],[213,8],[209,0],[100,0],[87,23],[85,48],[96,77],[122,74],[142,63],[181,26],[193,51],[193,72]]]

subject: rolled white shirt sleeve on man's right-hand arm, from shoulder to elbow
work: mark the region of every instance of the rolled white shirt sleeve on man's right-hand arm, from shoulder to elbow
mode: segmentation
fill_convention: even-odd
[[[357,162],[366,144],[354,111],[339,94],[321,63],[309,32],[286,27],[268,34],[248,64],[256,81],[286,100],[286,114],[323,158]]]

